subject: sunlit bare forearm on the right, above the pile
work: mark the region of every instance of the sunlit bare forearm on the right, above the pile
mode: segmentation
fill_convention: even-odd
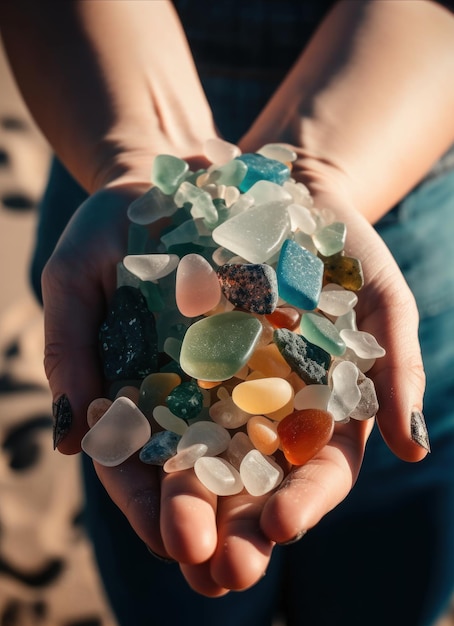
[[[340,2],[246,143],[299,146],[313,193],[329,180],[374,222],[454,141],[453,76],[454,17],[440,5]]]

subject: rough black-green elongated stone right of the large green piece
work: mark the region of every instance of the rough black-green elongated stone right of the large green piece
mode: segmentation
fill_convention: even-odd
[[[273,341],[292,370],[308,385],[328,382],[331,355],[286,328],[274,331]]]

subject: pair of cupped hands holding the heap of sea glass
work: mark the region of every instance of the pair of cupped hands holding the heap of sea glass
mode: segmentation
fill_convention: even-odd
[[[239,146],[254,152],[273,139],[279,141],[251,131]],[[116,288],[116,264],[126,254],[127,208],[149,189],[155,155],[174,154],[192,169],[208,165],[200,156],[202,142],[193,147],[186,143],[177,145],[160,131],[146,167],[136,167],[135,155],[129,167],[127,151],[120,175],[107,166],[106,184],[79,207],[45,267],[46,373],[54,401],[66,395],[72,410],[71,428],[58,445],[62,453],[80,450],[88,429],[87,406],[106,395],[98,330]],[[356,307],[358,327],[372,333],[387,351],[368,374],[380,404],[378,427],[396,455],[419,461],[426,450],[411,438],[410,415],[422,408],[424,374],[413,296],[387,247],[351,202],[341,176],[325,174],[323,168],[311,171],[298,140],[288,143],[298,154],[292,176],[309,186],[317,207],[334,210],[347,224],[346,250],[362,262],[365,286]],[[374,420],[336,426],[321,452],[294,467],[276,491],[262,497],[245,492],[217,497],[192,470],[164,475],[138,455],[119,467],[95,463],[95,468],[144,550],[148,546],[177,561],[193,589],[216,597],[254,585],[266,572],[276,544],[294,541],[339,505],[355,483],[373,426]]]

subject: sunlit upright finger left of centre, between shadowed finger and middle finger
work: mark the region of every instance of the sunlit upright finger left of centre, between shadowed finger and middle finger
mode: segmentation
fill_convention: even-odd
[[[208,560],[217,544],[217,497],[192,469],[166,474],[161,482],[161,533],[167,553],[180,563]]]

